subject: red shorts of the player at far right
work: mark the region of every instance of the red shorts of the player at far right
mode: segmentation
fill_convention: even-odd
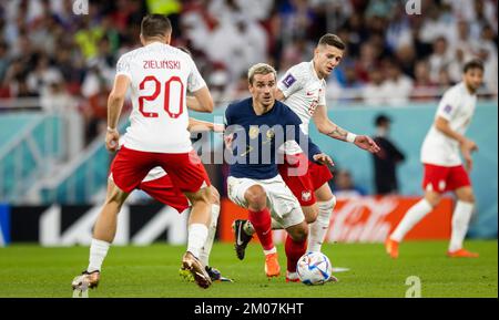
[[[422,179],[424,190],[437,193],[452,192],[455,189],[471,186],[468,173],[462,165],[444,167],[437,165],[425,165],[425,177]]]

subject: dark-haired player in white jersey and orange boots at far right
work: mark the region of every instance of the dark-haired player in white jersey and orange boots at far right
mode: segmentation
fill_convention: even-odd
[[[465,136],[477,104],[477,90],[483,81],[483,64],[472,60],[465,64],[462,82],[449,89],[438,105],[435,122],[421,147],[425,166],[422,188],[425,197],[414,205],[386,240],[391,258],[398,257],[398,245],[405,235],[429,214],[446,192],[454,192],[457,204],[452,214],[452,233],[447,255],[452,258],[477,258],[478,254],[462,248],[468,224],[475,206],[469,178],[471,153],[478,147]],[[465,166],[459,156],[465,158]]]

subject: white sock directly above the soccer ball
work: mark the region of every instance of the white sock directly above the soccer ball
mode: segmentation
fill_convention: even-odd
[[[333,209],[336,205],[336,198],[334,197],[329,202],[317,203],[317,219],[313,224],[308,225],[308,252],[320,252],[327,230],[329,229],[330,216],[333,215]]]

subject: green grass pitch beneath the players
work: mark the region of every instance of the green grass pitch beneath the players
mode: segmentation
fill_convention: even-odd
[[[203,290],[179,277],[183,246],[112,247],[102,279],[90,297],[405,297],[406,279],[417,276],[422,297],[498,297],[498,246],[467,241],[478,259],[450,259],[446,241],[405,242],[391,260],[383,245],[325,245],[324,252],[338,272],[337,283],[307,287],[286,283],[284,276],[267,280],[264,257],[249,245],[244,261],[230,244],[215,244],[211,265],[235,282],[215,282]],[[278,247],[282,269],[286,261]],[[89,248],[41,248],[12,245],[0,248],[0,297],[71,297],[71,280],[86,267]]]

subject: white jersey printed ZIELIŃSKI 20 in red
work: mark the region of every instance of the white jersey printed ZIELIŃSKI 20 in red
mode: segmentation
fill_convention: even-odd
[[[133,104],[124,146],[142,152],[191,152],[186,92],[206,86],[191,56],[153,42],[123,54],[116,66],[120,74],[131,80]]]

